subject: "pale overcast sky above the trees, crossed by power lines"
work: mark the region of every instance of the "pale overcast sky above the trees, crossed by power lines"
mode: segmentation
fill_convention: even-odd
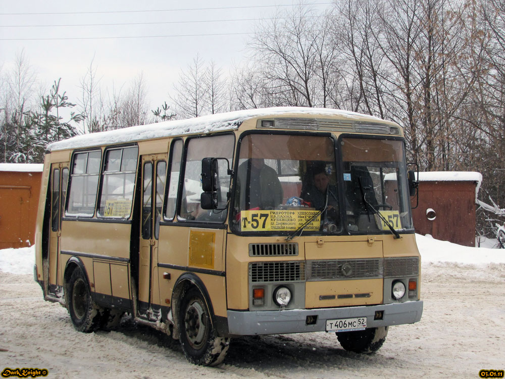
[[[316,4],[314,7],[320,10],[330,7],[330,2],[305,1]],[[190,64],[196,54],[205,61],[214,60],[228,73],[233,63],[245,58],[245,43],[250,37],[247,33],[258,23],[250,19],[271,18],[278,8],[299,3],[0,0],[0,67],[3,65],[3,71],[8,71],[16,54],[24,50],[45,87],[61,77],[62,89],[70,101],[76,102],[80,96],[79,80],[94,57],[97,76],[102,78],[102,86],[110,89],[112,83],[117,89],[143,73],[149,104],[155,108],[168,100],[180,69]]]

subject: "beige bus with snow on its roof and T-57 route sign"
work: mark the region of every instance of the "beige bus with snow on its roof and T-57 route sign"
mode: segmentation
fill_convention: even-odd
[[[245,335],[334,332],[375,352],[423,309],[404,146],[393,122],[314,108],[51,144],[35,280],[77,330],[128,313],[196,364]]]

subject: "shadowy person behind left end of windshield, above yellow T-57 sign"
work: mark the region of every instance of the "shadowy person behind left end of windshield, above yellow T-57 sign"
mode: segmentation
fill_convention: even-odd
[[[263,158],[247,159],[238,166],[237,194],[241,210],[274,209],[283,199],[277,173]]]

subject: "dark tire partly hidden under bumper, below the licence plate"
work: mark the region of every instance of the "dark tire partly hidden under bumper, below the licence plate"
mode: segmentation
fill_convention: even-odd
[[[336,333],[338,342],[347,351],[372,354],[379,350],[386,340],[388,326],[371,327],[365,330],[342,331]]]

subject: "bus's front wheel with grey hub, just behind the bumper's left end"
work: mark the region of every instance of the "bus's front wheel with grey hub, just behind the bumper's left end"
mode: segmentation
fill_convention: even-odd
[[[216,336],[205,299],[195,287],[182,298],[178,323],[182,351],[188,361],[203,366],[223,361],[230,339]]]

